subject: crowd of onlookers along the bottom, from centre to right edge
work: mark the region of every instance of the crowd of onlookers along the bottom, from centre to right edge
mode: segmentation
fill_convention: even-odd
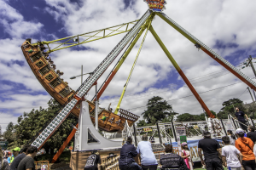
[[[211,133],[204,131],[203,139],[198,143],[198,156],[201,164],[207,170],[256,170],[256,132],[253,126],[247,127],[248,133],[243,129],[236,129],[236,133],[228,131],[228,135],[222,138],[223,144],[219,144],[216,139],[211,138]],[[247,137],[245,137],[247,136]],[[181,144],[182,150],[180,154],[173,153],[172,144],[164,144],[165,153],[160,155],[160,165],[162,170],[193,170],[193,161],[190,156],[188,144]],[[135,157],[140,155],[141,166],[135,161]],[[204,156],[204,159],[203,159]],[[91,159],[88,159],[89,161]],[[98,158],[97,160],[100,160]],[[97,163],[94,167],[84,167],[84,170],[97,170]],[[119,156],[120,170],[156,170],[158,161],[154,156],[151,142],[148,136],[143,135],[142,141],[137,144],[137,148],[132,144],[132,138],[128,137],[123,144]]]

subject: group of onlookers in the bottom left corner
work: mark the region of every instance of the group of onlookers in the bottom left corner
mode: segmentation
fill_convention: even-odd
[[[15,147],[12,154],[0,148],[0,153],[0,170],[35,170],[34,157],[38,153],[35,146],[26,144],[21,150]]]

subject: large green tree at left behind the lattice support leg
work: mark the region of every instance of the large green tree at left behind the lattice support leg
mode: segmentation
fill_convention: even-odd
[[[16,139],[13,143],[17,145],[28,144],[31,139],[38,135],[38,132],[44,127],[61,108],[61,105],[55,100],[50,99],[48,109],[32,110],[29,113],[24,112],[23,116],[18,117],[18,124],[15,126]],[[44,149],[53,156],[55,148],[59,149],[61,144],[67,139],[67,136],[73,130],[73,126],[77,121],[74,116],[68,116],[61,123],[61,126],[44,144]]]

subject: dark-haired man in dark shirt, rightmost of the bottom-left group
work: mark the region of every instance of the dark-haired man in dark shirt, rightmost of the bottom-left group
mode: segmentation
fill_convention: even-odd
[[[37,156],[38,148],[30,146],[27,148],[27,156],[25,156],[18,165],[18,170],[35,170],[34,157]]]

